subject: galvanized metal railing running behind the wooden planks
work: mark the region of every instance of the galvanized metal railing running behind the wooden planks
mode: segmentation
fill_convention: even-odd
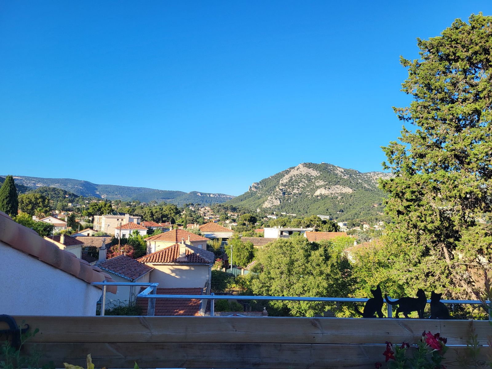
[[[157,295],[157,286],[159,283],[132,283],[132,282],[92,282],[92,285],[103,286],[102,303],[101,303],[101,315],[104,315],[104,305],[106,302],[106,286],[147,286],[145,290],[140,292],[137,297],[143,297],[149,300],[147,305],[147,315],[154,316],[155,313],[155,299],[177,299],[177,300],[212,300],[210,304],[210,316],[215,316],[214,303],[215,300],[256,300],[256,301],[311,301],[311,302],[337,302],[337,303],[365,303],[369,299],[366,298],[351,298],[351,297],[296,297],[296,296],[241,296],[241,295]],[[391,299],[391,302],[398,299]],[[482,305],[480,300],[440,300],[443,304],[464,304],[464,305]],[[427,300],[427,303],[431,303],[431,300]],[[492,321],[492,304],[489,300],[486,301],[489,305],[489,320]],[[387,304],[388,318],[393,317],[393,306]]]

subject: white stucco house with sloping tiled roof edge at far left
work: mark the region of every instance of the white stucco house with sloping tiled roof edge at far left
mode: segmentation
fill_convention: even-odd
[[[95,315],[100,287],[114,280],[71,252],[0,212],[1,312],[9,315]],[[6,264],[5,264],[6,266]],[[116,293],[116,286],[108,292]]]

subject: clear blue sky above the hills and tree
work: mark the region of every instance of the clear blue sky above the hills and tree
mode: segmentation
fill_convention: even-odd
[[[2,1],[0,174],[239,195],[381,170],[416,37],[491,1]]]

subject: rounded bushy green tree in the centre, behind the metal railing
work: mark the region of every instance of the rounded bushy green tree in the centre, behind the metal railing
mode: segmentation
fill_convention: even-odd
[[[258,250],[251,277],[255,295],[347,297],[353,288],[342,246],[333,242],[309,243],[305,237],[278,239]],[[335,304],[271,301],[270,306],[294,316],[313,316]]]

